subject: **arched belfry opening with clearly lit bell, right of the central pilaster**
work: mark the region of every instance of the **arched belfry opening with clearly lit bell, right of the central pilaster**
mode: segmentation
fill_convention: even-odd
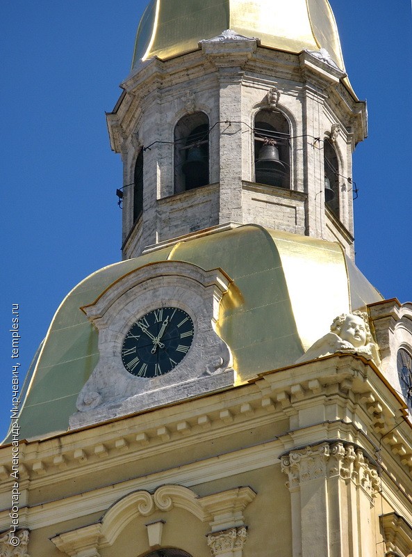
[[[254,122],[255,182],[290,187],[288,120],[280,112],[261,110]]]

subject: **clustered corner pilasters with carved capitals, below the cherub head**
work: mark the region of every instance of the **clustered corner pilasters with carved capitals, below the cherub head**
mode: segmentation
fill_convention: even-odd
[[[288,474],[293,557],[372,557],[372,496],[379,478],[363,450],[322,443],[281,458]]]

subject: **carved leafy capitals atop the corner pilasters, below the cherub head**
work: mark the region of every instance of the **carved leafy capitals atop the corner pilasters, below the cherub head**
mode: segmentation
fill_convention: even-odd
[[[363,454],[363,449],[342,442],[291,450],[288,455],[281,457],[281,469],[288,474],[286,485],[290,491],[303,483],[334,476],[352,480],[370,497],[380,487],[378,473]]]

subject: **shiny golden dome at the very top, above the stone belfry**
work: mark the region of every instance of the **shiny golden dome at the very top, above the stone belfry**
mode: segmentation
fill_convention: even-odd
[[[132,69],[140,60],[195,50],[199,40],[226,29],[286,52],[324,48],[345,70],[328,0],[151,0],[138,27]]]

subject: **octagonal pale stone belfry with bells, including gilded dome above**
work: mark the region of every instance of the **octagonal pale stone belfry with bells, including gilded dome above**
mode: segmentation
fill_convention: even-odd
[[[124,258],[246,223],[339,242],[353,258],[366,110],[327,0],[322,18],[295,0],[298,23],[286,1],[206,0],[190,22],[171,4],[175,27],[171,8],[149,4],[107,117],[124,164]]]

